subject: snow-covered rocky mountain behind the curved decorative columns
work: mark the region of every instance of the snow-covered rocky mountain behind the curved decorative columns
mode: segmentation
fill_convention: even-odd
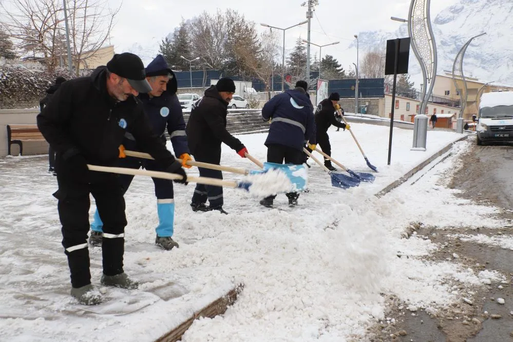
[[[438,49],[438,74],[452,70],[458,51],[474,35],[465,52],[463,72],[482,81],[513,85],[513,1],[460,0],[435,15],[431,13]],[[408,36],[406,24],[395,32],[367,31],[358,34],[360,51],[385,47],[388,39]],[[352,43],[350,47],[356,47]],[[410,73],[419,87],[420,67],[410,50]]]

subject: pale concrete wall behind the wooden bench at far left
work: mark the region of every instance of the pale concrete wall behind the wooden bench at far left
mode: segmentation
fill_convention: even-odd
[[[0,109],[0,157],[7,156],[7,125],[8,124],[35,124],[35,117],[39,109]],[[11,154],[20,153],[18,145],[11,145]],[[23,143],[23,155],[40,155],[48,153],[46,141],[30,141]]]

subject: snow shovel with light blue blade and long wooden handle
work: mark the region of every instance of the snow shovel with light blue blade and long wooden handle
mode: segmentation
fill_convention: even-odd
[[[149,154],[144,152],[138,152],[138,151],[130,151],[127,149],[124,149],[120,146],[120,156],[123,158],[123,155],[130,156],[130,157],[137,157],[137,158],[144,158],[144,159],[154,159]],[[248,155],[248,154],[246,154]],[[251,157],[251,156],[250,156]],[[253,157],[251,157],[253,158]],[[291,181],[292,185],[294,186],[294,189],[296,191],[302,191],[307,187],[308,177],[307,172],[305,169],[305,166],[303,165],[288,165],[288,164],[274,164],[274,163],[260,163],[257,159],[253,158],[252,160],[255,164],[261,165],[260,167],[263,168],[263,170],[248,170],[244,168],[239,167],[232,167],[232,166],[222,166],[217,164],[210,164],[210,163],[203,163],[203,162],[197,162],[193,160],[188,160],[186,162],[187,165],[191,166],[197,166],[197,167],[204,167],[204,168],[210,168],[214,170],[220,170],[220,171],[226,171],[231,172],[239,175],[258,175],[262,173],[268,172],[268,170],[271,169],[279,169],[281,172],[287,175],[287,178]],[[182,162],[181,159],[177,159],[178,162]]]

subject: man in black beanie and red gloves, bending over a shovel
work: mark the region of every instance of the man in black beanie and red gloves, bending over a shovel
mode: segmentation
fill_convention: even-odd
[[[205,90],[205,96],[193,105],[191,116],[187,122],[186,132],[189,149],[194,159],[199,162],[220,164],[221,143],[225,143],[242,158],[248,149],[226,130],[228,104],[235,93],[232,79],[222,78]],[[223,179],[221,171],[198,167],[200,176]],[[208,199],[210,203],[206,206]],[[223,188],[221,186],[196,184],[191,202],[193,211],[218,210],[227,214],[222,206]]]

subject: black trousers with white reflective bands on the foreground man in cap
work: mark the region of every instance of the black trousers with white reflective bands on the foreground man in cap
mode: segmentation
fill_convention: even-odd
[[[62,245],[68,257],[71,286],[80,288],[91,283],[89,271],[89,194],[96,200],[103,221],[103,273],[108,276],[123,273],[125,200],[115,174],[89,172],[88,179],[77,179],[56,161],[59,190],[59,218],[62,224]]]

